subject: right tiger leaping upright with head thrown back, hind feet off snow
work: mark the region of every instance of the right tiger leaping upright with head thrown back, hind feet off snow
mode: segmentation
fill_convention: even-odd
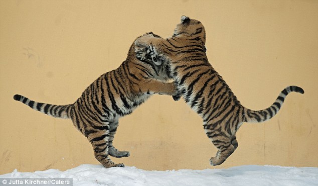
[[[150,52],[155,53],[169,61],[179,91],[173,98],[179,100],[182,96],[202,117],[205,133],[218,149],[210,159],[210,164],[215,166],[222,164],[238,147],[235,134],[243,122],[258,123],[271,119],[290,92],[304,94],[304,90],[298,86],[287,86],[267,109],[247,109],[209,63],[205,42],[203,24],[182,16],[172,37],[163,39],[142,36],[135,41],[135,51],[139,52],[138,47],[147,47],[149,55]]]

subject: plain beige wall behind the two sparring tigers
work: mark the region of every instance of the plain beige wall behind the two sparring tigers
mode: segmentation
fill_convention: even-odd
[[[264,109],[286,85],[280,113],[244,124],[239,148],[221,166],[201,118],[184,101],[153,96],[120,120],[116,159],[143,169],[244,164],[318,166],[318,1],[0,1],[0,174],[98,164],[70,120],[13,100],[73,103],[100,74],[117,68],[139,35],[172,35],[180,17],[203,22],[210,63],[241,103]]]

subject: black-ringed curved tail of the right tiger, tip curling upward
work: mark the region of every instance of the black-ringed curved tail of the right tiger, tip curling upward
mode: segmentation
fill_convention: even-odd
[[[283,105],[285,101],[286,96],[292,91],[299,92],[300,94],[304,94],[303,89],[300,88],[299,86],[287,86],[280,92],[276,101],[267,109],[260,110],[260,111],[253,111],[253,110],[244,108],[243,122],[264,122],[266,120],[271,119],[278,113],[279,109],[281,108],[281,106]]]

